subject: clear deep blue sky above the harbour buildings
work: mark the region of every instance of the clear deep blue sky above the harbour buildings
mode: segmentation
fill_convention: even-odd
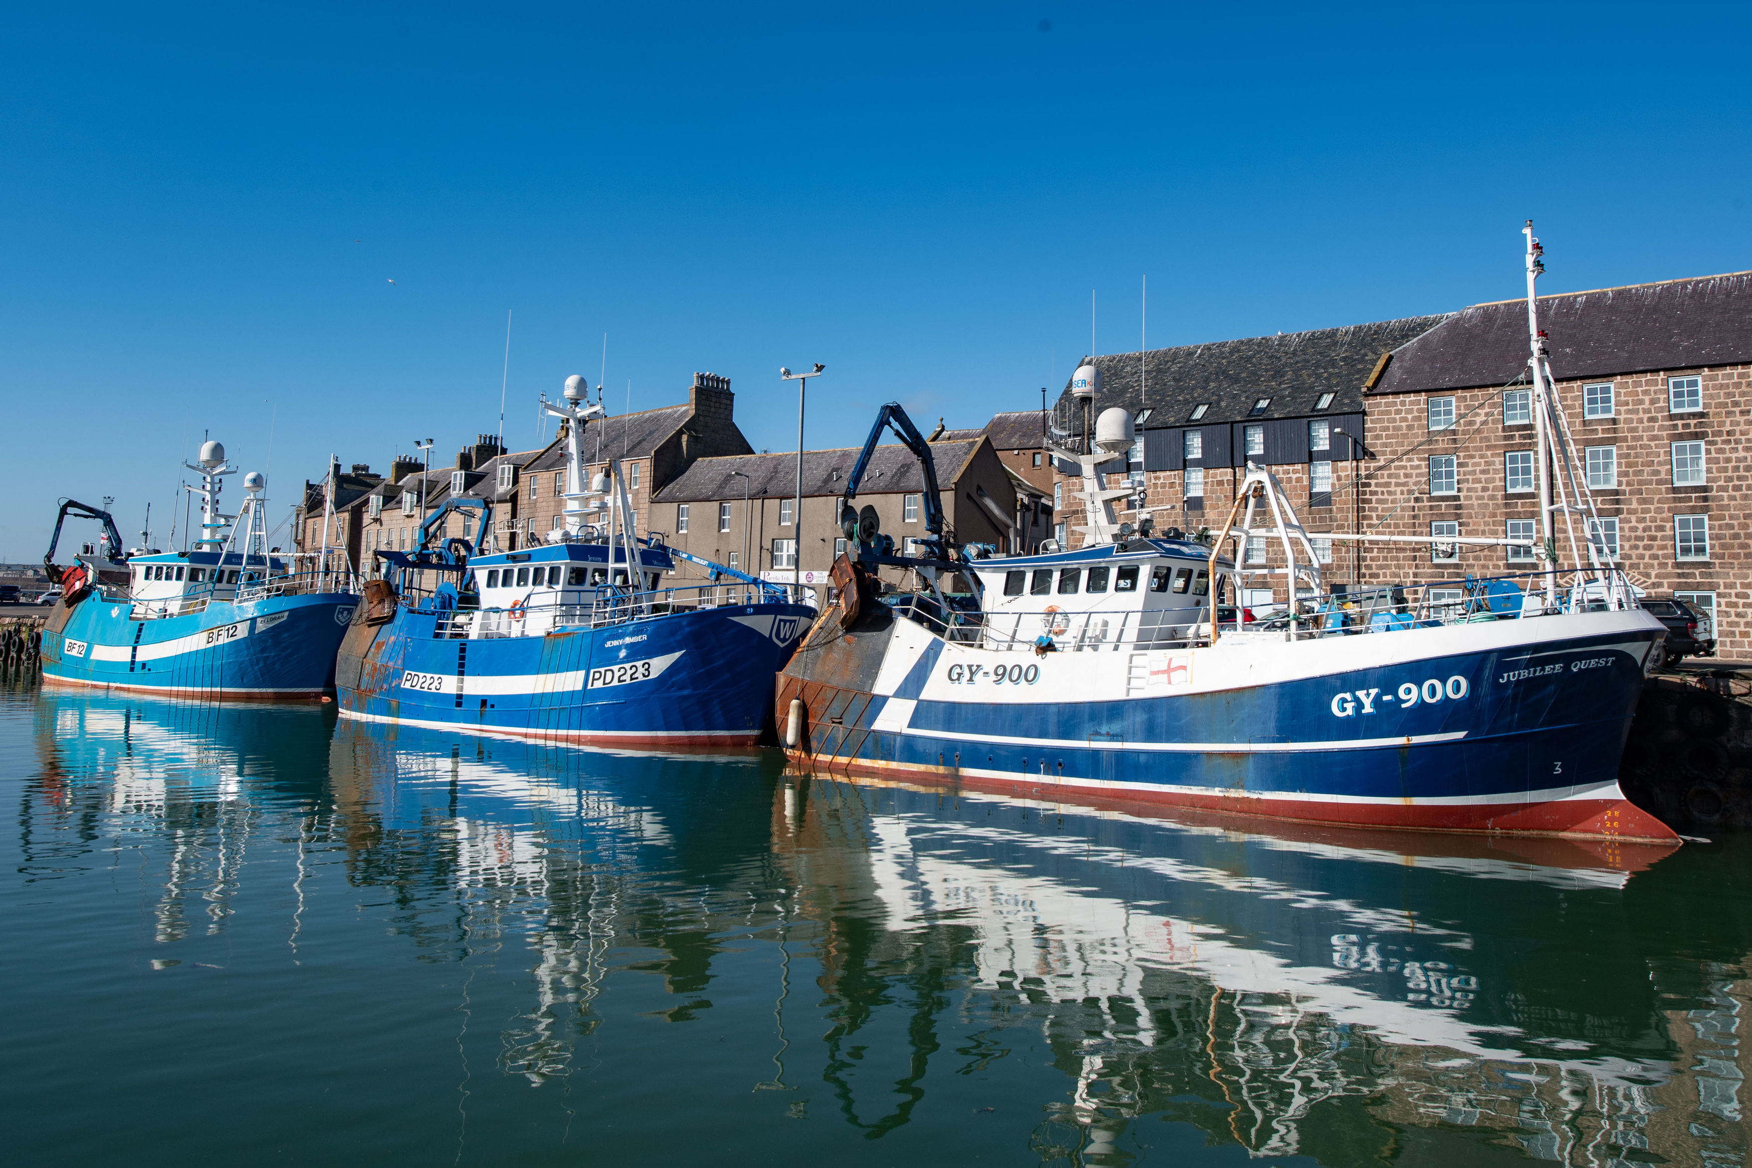
[[[536,445],[827,362],[809,445],[1039,403],[1093,347],[1752,268],[1748,9],[9,5],[0,559],[270,471]],[[394,284],[389,284],[394,280]],[[270,462],[272,424],[272,462]],[[130,534],[131,539],[131,534]],[[180,543],[180,536],[179,536]]]

